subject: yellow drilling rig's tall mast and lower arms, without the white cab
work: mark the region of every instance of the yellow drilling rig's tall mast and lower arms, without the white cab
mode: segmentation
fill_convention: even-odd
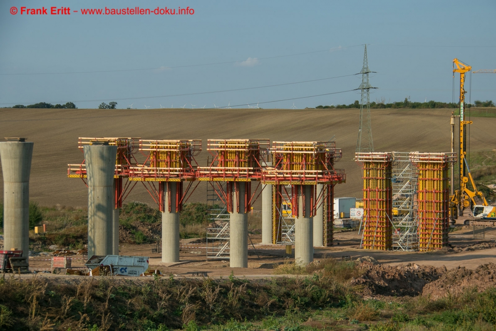
[[[456,66],[456,67],[455,67]],[[472,67],[464,64],[458,59],[453,60],[453,74],[455,72],[460,73],[460,141],[459,141],[459,167],[460,167],[460,188],[456,191],[452,191],[453,194],[450,196],[450,208],[449,214],[451,219],[457,218],[457,215],[463,216],[463,211],[465,208],[470,207],[470,202],[475,206],[477,202],[475,197],[479,197],[482,200],[482,205],[487,206],[488,201],[482,194],[482,192],[477,191],[474,179],[470,174],[470,169],[468,167],[465,155],[467,154],[467,133],[466,126],[472,124],[472,121],[465,121],[465,74],[472,70]],[[451,125],[454,126],[454,120],[451,121]],[[452,129],[453,130],[453,129]],[[452,131],[454,132],[454,131]],[[453,135],[453,139],[454,139]],[[454,152],[457,147],[456,143],[452,141],[452,152]],[[454,167],[452,168],[454,169]],[[470,181],[474,191],[471,191],[467,187],[467,183]],[[451,187],[455,185],[454,176],[451,176]]]

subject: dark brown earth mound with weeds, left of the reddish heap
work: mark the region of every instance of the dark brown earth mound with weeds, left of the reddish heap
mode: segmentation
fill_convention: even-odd
[[[426,284],[437,280],[446,272],[445,267],[430,265],[374,265],[364,261],[359,266],[362,276],[353,279],[352,285],[362,285],[363,294],[387,296],[416,296]]]

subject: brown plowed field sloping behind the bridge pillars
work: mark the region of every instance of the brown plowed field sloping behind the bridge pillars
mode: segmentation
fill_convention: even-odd
[[[376,151],[449,151],[451,110],[372,110]],[[347,173],[336,196],[361,196],[361,174],[353,161],[358,134],[358,109],[0,109],[0,137],[21,136],[33,141],[30,196],[42,205],[86,206],[87,189],[79,179],[66,177],[67,163],[82,161],[80,136],[124,136],[143,139],[203,139],[200,165],[206,163],[208,138],[269,138],[329,140],[343,150],[337,164]],[[471,150],[496,148],[496,119],[472,118]],[[0,186],[3,181],[0,178]],[[190,201],[206,200],[200,184]],[[0,193],[3,199],[3,190]],[[137,185],[128,200],[153,204]],[[255,204],[258,207],[258,203]]]

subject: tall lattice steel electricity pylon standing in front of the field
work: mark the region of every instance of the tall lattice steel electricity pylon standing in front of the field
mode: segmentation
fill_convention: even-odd
[[[369,73],[375,72],[369,69],[369,60],[367,59],[367,45],[365,45],[364,66],[362,71],[357,74],[362,74],[362,84],[357,90],[362,90],[362,100],[360,103],[360,128],[358,129],[358,140],[356,152],[373,152],[372,126],[371,126],[371,105],[370,105],[370,89]],[[366,123],[364,126],[364,109],[366,111]]]

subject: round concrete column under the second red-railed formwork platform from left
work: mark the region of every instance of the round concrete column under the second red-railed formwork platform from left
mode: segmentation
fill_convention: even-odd
[[[179,262],[179,212],[176,212],[177,182],[163,183],[165,203],[162,212],[162,262]],[[167,193],[167,185],[171,194]],[[171,211],[169,211],[169,205]]]

